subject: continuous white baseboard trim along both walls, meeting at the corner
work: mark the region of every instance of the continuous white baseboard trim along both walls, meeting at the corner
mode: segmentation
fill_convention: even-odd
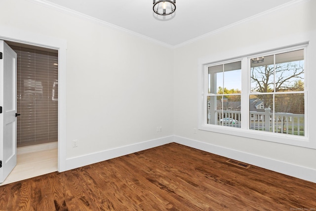
[[[294,164],[289,164],[286,162],[173,135],[92,154],[86,154],[79,157],[69,158],[66,161],[66,169],[76,169],[82,166],[110,160],[172,142],[316,183],[316,169],[297,166]]]

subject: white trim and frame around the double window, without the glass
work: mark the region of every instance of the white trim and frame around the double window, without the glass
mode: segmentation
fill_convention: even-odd
[[[265,131],[259,131],[259,130],[251,130],[249,129],[249,109],[242,109],[242,108],[249,108],[249,94],[250,94],[250,82],[249,82],[249,76],[250,76],[250,57],[260,57],[265,56],[268,54],[277,54],[292,50],[298,50],[304,48],[304,60],[305,60],[305,136],[296,136],[296,135],[290,135],[290,134],[280,134],[275,132],[265,132]],[[248,54],[240,57],[235,57],[232,59],[223,59],[220,61],[211,61],[209,60],[199,60],[198,63],[198,69],[200,77],[198,79],[199,84],[199,100],[198,100],[198,129],[200,130],[206,130],[210,132],[217,132],[217,133],[224,133],[228,135],[236,135],[240,137],[246,137],[251,139],[257,139],[257,140],[263,140],[263,141],[271,141],[276,143],[282,143],[282,144],[288,144],[288,145],[295,145],[295,146],[301,146],[301,147],[307,147],[307,148],[313,148],[316,149],[316,140],[313,141],[309,138],[309,130],[308,130],[308,42],[282,47],[275,50],[269,50],[264,52],[259,52],[256,54]],[[215,66],[219,64],[224,63],[230,63],[235,61],[241,61],[241,82],[242,82],[242,94],[241,94],[241,116],[243,117],[241,119],[241,127],[225,127],[225,126],[218,126],[218,125],[210,125],[206,124],[206,101],[207,101],[207,70],[209,66]],[[247,71],[245,71],[245,69]],[[247,82],[247,83],[244,83]]]

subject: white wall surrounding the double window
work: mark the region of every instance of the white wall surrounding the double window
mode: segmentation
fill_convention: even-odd
[[[198,130],[198,77],[200,59],[215,62],[277,47],[309,41],[306,80],[309,85],[308,123],[309,140],[315,143],[316,130],[316,8],[315,0],[303,1],[269,14],[249,19],[232,27],[220,30],[203,39],[175,49],[174,59],[174,112],[176,136],[187,140],[206,143],[213,148],[227,149],[244,153],[238,159],[250,164],[259,164],[249,160],[248,155],[279,161],[283,164],[312,169],[316,172],[316,150],[257,139],[231,136],[221,133]],[[216,20],[214,20],[216,21]],[[194,146],[194,144],[192,144]],[[315,145],[314,145],[315,146]],[[216,151],[216,150],[214,150]],[[225,150],[224,150],[225,151]],[[241,155],[239,153],[239,155]],[[224,153],[225,154],[225,153]],[[229,153],[225,154],[230,156]],[[231,154],[234,158],[234,155]],[[236,157],[235,157],[236,158]],[[265,168],[269,168],[264,166]],[[277,168],[271,167],[270,169]],[[316,181],[316,175],[310,175]],[[310,178],[311,178],[310,177]]]

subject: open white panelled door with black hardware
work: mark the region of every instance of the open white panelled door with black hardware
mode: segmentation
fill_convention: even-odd
[[[16,165],[16,61],[0,41],[0,183]]]

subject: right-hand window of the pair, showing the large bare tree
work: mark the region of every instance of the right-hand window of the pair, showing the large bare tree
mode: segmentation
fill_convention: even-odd
[[[261,119],[250,119],[249,128],[304,136],[304,49],[261,59],[250,59],[249,112]]]

